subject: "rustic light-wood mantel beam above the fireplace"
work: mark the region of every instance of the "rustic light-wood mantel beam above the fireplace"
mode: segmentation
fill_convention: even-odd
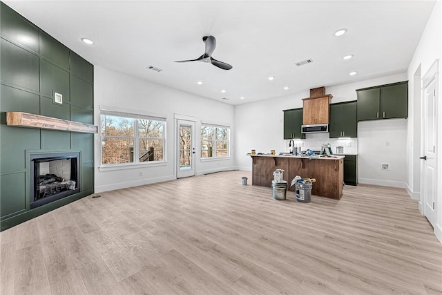
[[[7,112],[6,124],[9,126],[52,129],[58,131],[72,131],[82,133],[98,132],[98,127],[95,125],[23,112]]]

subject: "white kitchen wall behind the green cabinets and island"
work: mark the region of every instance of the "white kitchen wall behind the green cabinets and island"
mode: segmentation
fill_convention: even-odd
[[[407,79],[405,73],[367,79],[350,84],[326,86],[325,92],[333,95],[332,103],[356,100],[356,89]],[[302,107],[302,98],[309,93],[296,93],[278,99],[243,104],[235,108],[236,163],[242,170],[251,170],[250,157],[245,155],[251,149],[269,153],[288,151],[288,141],[283,140],[282,110]],[[406,181],[405,144],[407,120],[382,120],[358,123],[358,139],[329,139],[327,133],[307,134],[302,150],[320,149],[320,144],[344,146],[345,153],[358,153],[358,181],[392,187],[404,187]],[[350,142],[351,146],[347,146]],[[387,144],[388,142],[388,144]],[[381,170],[381,163],[390,164],[390,170]]]

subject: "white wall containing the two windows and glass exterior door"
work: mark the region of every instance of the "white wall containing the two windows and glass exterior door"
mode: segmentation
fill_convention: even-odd
[[[140,110],[153,115],[166,116],[166,163],[119,167],[108,170],[101,166],[100,135],[95,135],[95,192],[122,189],[136,185],[173,180],[175,165],[175,114],[196,118],[196,173],[236,169],[235,151],[228,160],[202,162],[198,142],[200,123],[210,122],[231,126],[231,146],[234,144],[234,108],[229,104],[198,97],[173,88],[154,84],[99,66],[94,67],[95,123],[99,124],[99,106],[113,106],[126,110]],[[142,176],[140,176],[142,174]]]

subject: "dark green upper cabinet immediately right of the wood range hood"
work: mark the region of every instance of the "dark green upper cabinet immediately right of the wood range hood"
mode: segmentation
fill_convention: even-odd
[[[330,104],[329,137],[357,137],[356,101]]]

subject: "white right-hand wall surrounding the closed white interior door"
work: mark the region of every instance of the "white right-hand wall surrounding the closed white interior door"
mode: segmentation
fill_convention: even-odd
[[[434,9],[432,11],[432,15],[427,22],[427,26],[425,26],[425,30],[421,36],[421,40],[419,41],[418,46],[416,47],[416,51],[414,52],[414,56],[412,61],[410,62],[410,66],[407,70],[408,79],[412,81],[415,79],[416,70],[421,70],[421,77],[417,76],[416,79],[423,78],[425,73],[430,70],[432,64],[436,59],[439,59],[439,101],[437,102],[437,113],[438,113],[438,139],[437,139],[437,154],[438,154],[438,164],[437,170],[439,173],[439,183],[437,187],[437,197],[436,197],[436,225],[434,227],[434,233],[442,242],[442,3],[441,1],[436,1]],[[414,93],[413,96],[410,97],[409,105],[421,104],[421,91],[416,91],[414,89],[414,85],[421,85],[420,82],[410,83],[409,84],[409,93]],[[416,140],[419,140],[419,131],[421,130],[421,118],[419,114],[416,114],[412,110],[408,132],[407,132],[407,146],[411,146],[413,144],[416,147]],[[419,142],[419,146],[421,143]],[[407,162],[410,163],[410,173],[409,178],[407,180],[407,187],[409,187],[410,196],[416,196],[419,198],[419,189],[417,188],[416,180],[420,180],[421,178],[421,163],[417,162],[416,158],[419,158],[422,155],[420,149],[407,149]],[[420,202],[419,208],[422,210],[422,204]]]

